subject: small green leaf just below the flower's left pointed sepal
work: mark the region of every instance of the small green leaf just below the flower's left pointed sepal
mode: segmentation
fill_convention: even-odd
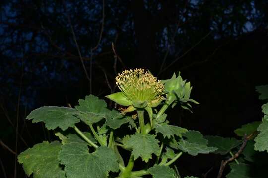
[[[124,117],[119,112],[112,110],[110,113],[106,116],[106,124],[112,129],[119,128],[122,124],[128,123],[129,120],[127,117]]]

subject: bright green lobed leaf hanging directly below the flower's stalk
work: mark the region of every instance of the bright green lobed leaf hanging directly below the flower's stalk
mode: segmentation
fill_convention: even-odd
[[[152,153],[157,155],[160,149],[159,141],[155,139],[155,136],[151,134],[134,134],[125,141],[125,146],[132,149],[135,160],[141,157],[143,161],[148,162],[152,158]]]

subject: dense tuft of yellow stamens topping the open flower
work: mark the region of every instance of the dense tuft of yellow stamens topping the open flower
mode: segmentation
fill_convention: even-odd
[[[160,80],[144,69],[125,70],[116,77],[116,84],[121,92],[133,101],[161,100],[164,85]]]

